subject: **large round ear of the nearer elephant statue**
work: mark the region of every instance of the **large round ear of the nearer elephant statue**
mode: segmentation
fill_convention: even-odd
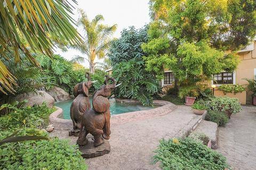
[[[93,99],[92,106],[95,111],[103,113],[109,110],[110,103],[108,101],[108,98],[99,95]]]

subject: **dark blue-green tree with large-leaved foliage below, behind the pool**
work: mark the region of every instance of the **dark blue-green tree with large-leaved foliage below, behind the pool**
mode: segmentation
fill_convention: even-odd
[[[143,105],[153,104],[153,96],[161,89],[159,80],[145,70],[141,44],[148,41],[148,27],[124,29],[121,37],[113,41],[109,49],[109,60],[113,66],[112,76],[122,83],[115,90],[117,98],[137,99]]]

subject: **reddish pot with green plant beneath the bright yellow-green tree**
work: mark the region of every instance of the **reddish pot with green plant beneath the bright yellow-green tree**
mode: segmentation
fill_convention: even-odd
[[[179,90],[179,97],[185,98],[185,105],[192,106],[198,96],[198,91],[196,86],[184,86]]]

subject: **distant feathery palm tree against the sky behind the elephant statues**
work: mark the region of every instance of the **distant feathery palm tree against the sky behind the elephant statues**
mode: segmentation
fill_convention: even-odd
[[[103,25],[101,21],[104,20],[102,15],[96,15],[95,18],[90,21],[82,9],[79,9],[81,18],[78,19],[78,26],[82,26],[84,30],[84,42],[82,45],[76,44],[71,47],[81,51],[86,56],[76,55],[73,62],[85,62],[90,64],[90,72],[94,74],[95,59],[101,59],[105,57],[105,54],[110,45],[110,36],[116,30],[117,25],[107,26]]]

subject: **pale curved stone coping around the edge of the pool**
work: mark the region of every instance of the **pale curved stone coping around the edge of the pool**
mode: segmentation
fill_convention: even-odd
[[[137,100],[130,99],[116,99],[117,102],[124,103],[140,103]],[[124,114],[113,115],[110,118],[110,125],[116,126],[127,122],[133,122],[143,119],[149,119],[157,116],[163,116],[169,114],[173,110],[177,109],[177,106],[171,102],[164,100],[153,100],[154,105],[161,107],[149,110],[140,110],[126,112]],[[68,130],[73,127],[72,120],[59,118],[62,115],[63,110],[59,107],[55,107],[56,110],[49,116],[50,123],[53,124],[55,130]]]

